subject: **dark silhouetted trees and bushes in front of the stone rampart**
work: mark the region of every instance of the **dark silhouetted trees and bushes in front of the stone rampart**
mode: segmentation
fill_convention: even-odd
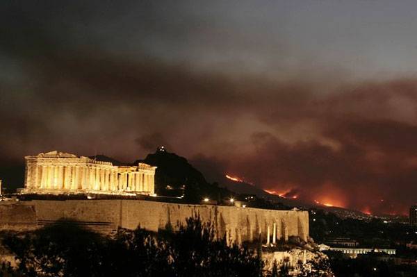
[[[18,266],[3,264],[0,276],[262,276],[260,255],[214,240],[213,228],[198,218],[187,223],[175,233],[120,229],[112,237],[64,221],[2,233]]]

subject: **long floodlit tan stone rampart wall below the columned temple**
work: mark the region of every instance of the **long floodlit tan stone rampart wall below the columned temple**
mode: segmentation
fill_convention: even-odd
[[[166,226],[178,230],[188,217],[199,215],[202,221],[210,221],[215,226],[218,236],[226,235],[231,242],[252,241],[259,237],[266,241],[268,234],[272,242],[274,228],[278,240],[293,235],[306,240],[309,235],[309,214],[306,211],[186,205],[142,200],[34,200],[9,206],[14,207],[12,209],[23,217],[30,211],[35,211],[40,226],[59,219],[72,219],[93,229],[99,226],[97,228],[102,228],[104,232],[115,230],[117,227],[134,229],[138,226],[152,231]]]

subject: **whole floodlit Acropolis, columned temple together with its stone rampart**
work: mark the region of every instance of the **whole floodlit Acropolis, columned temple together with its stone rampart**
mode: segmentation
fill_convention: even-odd
[[[139,162],[136,165],[113,165],[70,153],[51,151],[26,156],[26,178],[22,194],[116,194],[150,195],[155,198],[156,167]],[[260,208],[164,203],[141,199],[31,200],[0,202],[0,229],[28,230],[61,219],[71,220],[100,233],[117,228],[138,226],[157,231],[178,230],[188,217],[199,215],[210,221],[217,236],[241,243],[261,239],[275,243],[297,236],[309,236],[306,211],[265,210]]]

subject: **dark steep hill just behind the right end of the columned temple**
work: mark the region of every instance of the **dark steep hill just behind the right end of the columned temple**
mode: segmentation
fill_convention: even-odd
[[[203,174],[195,169],[186,158],[175,153],[169,153],[165,149],[157,149],[144,160],[136,160],[153,165],[155,172],[156,194],[167,196],[181,196],[199,202],[204,197],[221,201],[224,197],[233,194],[229,190],[218,187],[217,183],[208,183]]]

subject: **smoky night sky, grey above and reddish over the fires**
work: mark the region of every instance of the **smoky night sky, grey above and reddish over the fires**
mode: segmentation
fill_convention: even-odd
[[[1,165],[156,146],[210,181],[417,201],[415,1],[2,1]]]

